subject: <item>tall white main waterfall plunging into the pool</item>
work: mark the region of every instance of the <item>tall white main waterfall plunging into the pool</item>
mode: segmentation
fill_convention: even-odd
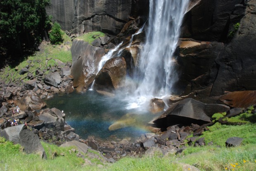
[[[171,94],[175,82],[173,53],[189,0],[149,0],[146,43],[141,52],[137,89],[128,108],[137,108],[145,99]],[[136,105],[135,105],[136,103]]]

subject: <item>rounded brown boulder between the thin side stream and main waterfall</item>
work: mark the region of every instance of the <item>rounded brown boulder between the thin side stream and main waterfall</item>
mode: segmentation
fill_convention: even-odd
[[[125,86],[126,61],[123,57],[109,59],[95,78],[95,89],[114,90]]]

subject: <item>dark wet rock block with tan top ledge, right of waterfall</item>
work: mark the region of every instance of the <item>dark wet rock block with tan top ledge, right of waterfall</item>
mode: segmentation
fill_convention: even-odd
[[[201,42],[192,39],[180,39],[178,45],[177,70],[179,80],[175,84],[183,96],[191,91],[205,89],[213,84],[217,74],[215,60],[223,49],[221,42]],[[183,89],[182,89],[183,88]],[[209,96],[210,91],[205,96]]]

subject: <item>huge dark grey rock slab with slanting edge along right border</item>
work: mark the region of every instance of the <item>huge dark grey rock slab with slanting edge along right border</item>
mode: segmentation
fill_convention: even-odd
[[[246,3],[246,13],[238,30],[216,59],[219,69],[211,96],[222,95],[224,91],[256,89],[256,0]]]

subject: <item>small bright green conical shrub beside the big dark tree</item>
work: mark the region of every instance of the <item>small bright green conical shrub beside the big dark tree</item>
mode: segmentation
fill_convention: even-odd
[[[59,23],[55,22],[52,26],[52,30],[49,32],[49,38],[53,45],[59,45],[63,42],[62,35],[64,33],[61,30]]]

